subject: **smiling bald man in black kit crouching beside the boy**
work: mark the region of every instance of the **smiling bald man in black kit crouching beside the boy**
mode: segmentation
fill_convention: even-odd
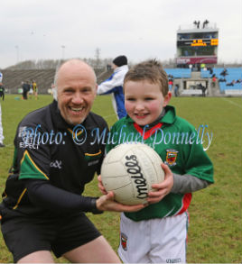
[[[71,59],[57,70],[55,89],[58,102],[27,114],[17,129],[0,207],[5,243],[19,263],[51,263],[51,250],[70,262],[119,262],[83,212],[133,212],[144,205],[117,204],[112,192],[80,196],[99,173],[105,150],[93,138],[107,132],[107,123],[90,112],[95,73]]]

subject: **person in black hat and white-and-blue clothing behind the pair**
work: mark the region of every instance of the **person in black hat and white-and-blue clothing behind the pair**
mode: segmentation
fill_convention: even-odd
[[[111,77],[107,78],[98,86],[98,95],[108,95],[113,96],[113,106],[118,119],[126,116],[125,108],[125,96],[123,93],[123,84],[126,72],[128,71],[126,56],[121,55],[113,60],[112,68],[114,73]]]

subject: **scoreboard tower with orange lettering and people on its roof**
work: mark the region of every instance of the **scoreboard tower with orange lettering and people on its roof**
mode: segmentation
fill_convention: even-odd
[[[176,65],[178,68],[200,68],[217,64],[219,29],[216,23],[195,21],[180,26],[176,33]]]

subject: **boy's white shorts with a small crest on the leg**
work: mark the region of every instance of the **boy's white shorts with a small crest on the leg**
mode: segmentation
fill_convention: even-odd
[[[118,255],[125,263],[185,263],[189,216],[135,222],[121,214]]]

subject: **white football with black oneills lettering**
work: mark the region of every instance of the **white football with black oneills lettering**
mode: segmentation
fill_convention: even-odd
[[[152,185],[163,182],[162,163],[161,157],[143,143],[120,144],[103,160],[103,186],[113,191],[115,200],[121,204],[144,204]]]

